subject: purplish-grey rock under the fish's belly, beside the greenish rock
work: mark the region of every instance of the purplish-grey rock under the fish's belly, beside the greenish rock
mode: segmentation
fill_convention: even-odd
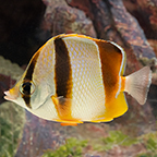
[[[63,144],[64,137],[57,131],[59,125],[26,111],[23,137],[15,157],[40,157],[46,149]]]

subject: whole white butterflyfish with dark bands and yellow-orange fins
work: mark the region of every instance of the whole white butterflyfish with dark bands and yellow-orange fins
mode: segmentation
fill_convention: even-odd
[[[125,64],[113,41],[61,34],[37,50],[4,99],[61,125],[109,122],[128,111],[124,93],[144,105],[152,83],[148,65],[124,76]]]

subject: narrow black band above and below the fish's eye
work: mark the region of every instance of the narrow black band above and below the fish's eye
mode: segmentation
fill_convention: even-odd
[[[39,51],[37,51],[34,55],[33,59],[31,60],[31,63],[29,63],[29,65],[27,68],[26,75],[24,77],[23,84],[27,84],[27,83],[29,83],[33,80],[33,73],[34,73],[34,69],[35,69],[38,56],[39,56]],[[27,94],[26,95],[23,94],[22,97],[23,97],[26,106],[28,108],[32,108],[32,106],[31,106],[31,87],[27,87]]]

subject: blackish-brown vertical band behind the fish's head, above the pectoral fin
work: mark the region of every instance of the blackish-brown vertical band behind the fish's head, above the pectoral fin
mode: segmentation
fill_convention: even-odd
[[[56,49],[56,65],[55,65],[55,81],[57,96],[71,98],[72,94],[72,69],[70,56],[65,43],[62,38],[55,39]]]

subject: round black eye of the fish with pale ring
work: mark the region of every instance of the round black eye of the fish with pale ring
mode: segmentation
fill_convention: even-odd
[[[35,90],[35,85],[31,81],[23,82],[20,86],[20,92],[23,95],[32,95]]]

